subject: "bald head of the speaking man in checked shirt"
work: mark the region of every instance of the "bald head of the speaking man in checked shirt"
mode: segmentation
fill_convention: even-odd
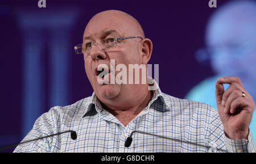
[[[102,49],[104,47],[102,40],[130,36],[141,36],[143,39],[118,40],[115,47]],[[131,95],[141,90],[141,85],[118,85],[117,83],[101,85],[97,81],[97,67],[101,64],[108,65],[109,69],[111,66],[115,68],[118,64],[126,65],[128,68],[129,64],[147,64],[150,60],[152,43],[144,38],[142,27],[133,16],[118,10],[102,11],[94,15],[85,28],[83,46],[90,42],[96,42],[96,44],[89,53],[84,52],[85,71],[94,92],[102,102],[131,98]],[[115,65],[111,65],[110,60],[115,60]],[[110,77],[117,73],[108,74],[109,82]]]

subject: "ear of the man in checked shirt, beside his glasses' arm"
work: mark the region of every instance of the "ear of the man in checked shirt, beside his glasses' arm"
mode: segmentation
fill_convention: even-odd
[[[147,62],[150,60],[151,54],[153,50],[153,44],[150,39],[143,39],[142,40],[142,64],[147,64]]]

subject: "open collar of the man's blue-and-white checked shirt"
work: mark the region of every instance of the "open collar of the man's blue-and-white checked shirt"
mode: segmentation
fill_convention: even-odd
[[[153,90],[154,95],[152,96],[152,99],[148,103],[147,107],[150,107],[151,104],[153,104],[153,103],[157,103],[158,105],[159,104],[162,105],[162,107],[155,108],[155,110],[162,111],[162,112],[170,111],[171,107],[166,103],[166,96],[160,90],[158,83],[156,83],[156,81],[151,77],[148,77],[148,81],[150,81],[150,83],[152,83],[152,85],[148,86],[148,89]],[[85,110],[82,114],[82,117],[86,116],[86,114],[88,112],[95,111],[96,109],[97,109],[96,110],[97,112],[103,111],[100,100],[98,100],[95,92],[93,92],[92,96],[90,96],[88,101],[86,101],[86,104],[84,105],[84,107],[85,107]],[[96,112],[94,112],[94,113],[96,113]]]

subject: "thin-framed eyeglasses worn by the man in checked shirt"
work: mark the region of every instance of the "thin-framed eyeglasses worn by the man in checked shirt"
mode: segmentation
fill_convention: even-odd
[[[84,44],[79,44],[79,45],[76,45],[74,48],[75,48],[76,54],[81,54],[82,52],[90,53],[90,51],[94,47],[94,45],[97,45],[97,47],[100,48],[103,51],[104,49],[109,49],[109,48],[117,46],[117,40],[133,39],[133,38],[143,39],[141,36],[118,37],[118,38],[108,37],[106,39],[101,40],[101,43],[103,45],[102,48],[95,41],[94,42],[89,42],[89,43],[84,43]]]

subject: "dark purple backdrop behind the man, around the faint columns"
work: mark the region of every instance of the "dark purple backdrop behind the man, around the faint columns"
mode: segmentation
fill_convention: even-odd
[[[209,16],[216,10],[208,7],[208,0],[200,1],[49,1],[46,8],[39,8],[38,1],[1,1],[0,2],[0,33],[1,33],[1,117],[0,117],[0,146],[19,142],[24,137],[22,124],[24,92],[24,38],[26,33],[19,24],[19,11],[29,11],[30,14],[51,15],[55,12],[76,11],[73,23],[69,24],[68,43],[68,88],[65,90],[68,105],[77,100],[92,95],[92,87],[84,71],[82,55],[73,51],[73,46],[80,44],[86,23],[97,12],[116,9],[133,15],[142,24],[146,37],[152,40],[153,53],[149,64],[159,64],[160,89],[177,98],[184,98],[185,94],[204,78],[213,75],[208,64],[200,65],[195,60],[195,52],[204,47],[205,26]],[[224,2],[217,0],[217,7]],[[49,16],[51,19],[51,16]],[[40,18],[39,18],[40,21]],[[56,23],[56,22],[55,22]],[[57,24],[57,23],[56,23]],[[54,26],[50,25],[50,26]],[[38,106],[36,116],[42,115],[52,107],[49,103],[49,90],[53,71],[49,66],[51,58],[51,41],[49,31],[41,32],[44,44],[43,57],[40,58],[43,73],[43,98]],[[49,37],[48,37],[49,36]],[[56,35],[56,37],[58,37]],[[35,54],[36,55],[36,54]],[[35,82],[36,83],[36,82]],[[40,104],[40,103],[39,103]],[[34,122],[35,120],[33,120]],[[30,129],[32,124],[30,125]],[[1,150],[12,152],[14,148]]]

